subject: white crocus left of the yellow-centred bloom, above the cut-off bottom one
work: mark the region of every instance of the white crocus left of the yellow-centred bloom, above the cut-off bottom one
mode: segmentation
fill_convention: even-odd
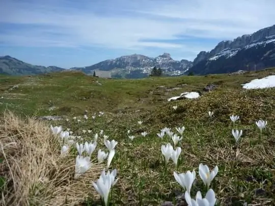
[[[174,171],[174,177],[176,181],[183,187],[188,193],[190,193],[191,187],[196,179],[196,172],[190,172],[189,170],[186,173],[180,173]]]

